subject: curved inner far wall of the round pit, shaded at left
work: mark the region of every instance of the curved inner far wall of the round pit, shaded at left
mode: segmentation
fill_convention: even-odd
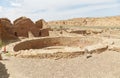
[[[50,46],[68,46],[84,48],[97,44],[101,40],[93,37],[45,37],[20,42],[14,46],[14,51],[42,49]]]

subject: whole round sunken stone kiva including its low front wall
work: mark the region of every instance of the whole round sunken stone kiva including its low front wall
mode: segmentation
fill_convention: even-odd
[[[79,42],[79,39],[81,38],[56,37],[53,39],[46,37],[41,39],[22,41],[21,43],[17,43],[17,45],[13,46],[14,50],[16,50],[17,52],[13,53],[12,55],[21,58],[41,58],[41,59],[74,58],[80,55],[87,55],[87,58],[89,58],[92,56],[92,54],[99,54],[105,52],[108,49],[107,44],[101,44],[98,42],[98,40],[97,43],[88,44],[87,41],[86,44],[85,42],[88,39],[86,39],[85,42],[83,41],[83,39],[81,39],[82,41]],[[79,45],[77,45],[76,43],[79,43]],[[86,45],[83,45],[84,43]],[[84,46],[84,48],[80,48],[79,46]]]

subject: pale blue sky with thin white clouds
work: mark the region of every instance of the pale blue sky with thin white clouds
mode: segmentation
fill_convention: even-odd
[[[0,18],[61,20],[120,15],[120,0],[0,0]]]

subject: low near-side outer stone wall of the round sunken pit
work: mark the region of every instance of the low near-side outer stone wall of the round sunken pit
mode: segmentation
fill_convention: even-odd
[[[75,58],[78,56],[83,56],[83,55],[87,55],[87,54],[99,54],[102,53],[104,51],[106,51],[108,49],[107,45],[103,45],[102,47],[99,46],[97,48],[94,48],[92,50],[86,52],[86,49],[80,50],[80,51],[75,51],[75,52],[51,52],[51,53],[40,53],[40,52],[29,52],[29,51],[20,51],[20,52],[16,52],[13,55],[15,57],[20,57],[20,58],[40,58],[40,59],[61,59],[61,58]],[[39,50],[38,50],[39,51]],[[86,56],[87,58],[87,56]]]

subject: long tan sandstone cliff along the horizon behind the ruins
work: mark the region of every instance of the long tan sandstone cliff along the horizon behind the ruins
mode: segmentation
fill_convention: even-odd
[[[49,26],[120,26],[120,16],[50,21]]]

